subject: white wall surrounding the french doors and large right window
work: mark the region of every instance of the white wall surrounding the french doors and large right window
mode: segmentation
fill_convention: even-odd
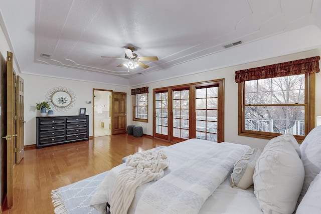
[[[159,82],[153,82],[146,85],[135,86],[132,88],[139,87],[149,87],[148,94],[148,123],[133,121],[133,125],[139,125],[143,127],[143,132],[148,135],[152,135],[152,90],[154,88],[162,88],[166,86],[174,86],[188,83],[195,83],[200,81],[215,80],[215,79],[225,79],[225,141],[247,144],[251,147],[258,147],[261,150],[264,148],[268,140],[244,137],[238,135],[238,84],[235,83],[235,71],[254,68],[264,65],[271,65],[275,63],[287,62],[292,60],[304,59],[313,56],[319,56],[320,50],[311,50],[301,53],[291,54],[283,57],[271,58],[267,60],[261,60],[253,63],[246,63],[242,65],[232,66],[228,68],[222,68],[218,70],[206,71],[199,74],[184,76],[180,78],[164,80]],[[162,72],[162,71],[159,71]],[[316,105],[315,113],[321,116],[321,72],[316,74],[315,83],[315,95],[316,95]]]

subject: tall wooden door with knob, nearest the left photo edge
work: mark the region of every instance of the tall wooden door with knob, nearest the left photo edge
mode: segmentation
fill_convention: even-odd
[[[15,83],[16,74],[13,70],[13,54],[8,52],[7,55],[7,200],[8,207],[13,206],[14,198],[14,180],[13,180],[13,167],[14,167],[14,145],[16,145],[16,115],[15,108]]]

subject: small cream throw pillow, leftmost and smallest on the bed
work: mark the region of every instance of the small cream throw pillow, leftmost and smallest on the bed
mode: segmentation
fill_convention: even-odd
[[[260,149],[250,149],[235,162],[230,179],[233,188],[247,189],[253,184],[255,163],[260,154]]]

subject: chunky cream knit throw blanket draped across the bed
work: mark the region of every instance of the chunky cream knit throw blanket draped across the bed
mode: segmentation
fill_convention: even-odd
[[[130,155],[126,167],[120,170],[112,188],[110,199],[111,213],[125,214],[138,186],[159,180],[164,169],[169,166],[169,159],[164,151],[147,150]]]

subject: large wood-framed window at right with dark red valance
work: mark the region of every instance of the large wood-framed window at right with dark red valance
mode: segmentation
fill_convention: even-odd
[[[239,134],[297,140],[314,128],[314,83],[319,57],[236,72]]]

